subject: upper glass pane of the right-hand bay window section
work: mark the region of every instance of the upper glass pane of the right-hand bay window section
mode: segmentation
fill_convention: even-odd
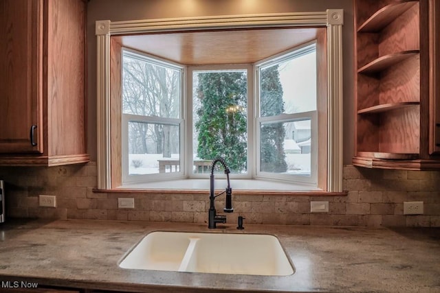
[[[316,110],[316,51],[260,69],[260,116]]]

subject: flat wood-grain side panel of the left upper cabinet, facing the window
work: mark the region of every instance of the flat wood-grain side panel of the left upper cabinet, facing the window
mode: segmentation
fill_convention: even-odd
[[[47,5],[49,155],[83,154],[85,145],[85,3]]]

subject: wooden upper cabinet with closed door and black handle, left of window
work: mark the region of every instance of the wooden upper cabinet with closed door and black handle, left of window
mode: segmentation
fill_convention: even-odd
[[[0,2],[0,164],[65,165],[86,154],[84,0]]]

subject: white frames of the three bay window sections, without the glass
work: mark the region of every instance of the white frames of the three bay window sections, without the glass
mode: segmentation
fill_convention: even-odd
[[[311,48],[313,46],[313,48]],[[125,52],[129,52],[129,56],[131,58],[137,58],[146,62],[151,62],[155,65],[164,65],[165,67],[170,67],[173,69],[181,69],[182,75],[186,75],[186,99],[181,99],[181,109],[187,108],[188,112],[186,115],[181,113],[181,117],[186,116],[187,121],[183,119],[170,119],[170,118],[162,118],[162,117],[143,117],[140,115],[129,115],[122,113],[122,184],[126,183],[148,183],[155,180],[171,180],[171,179],[180,179],[180,178],[190,178],[190,179],[201,179],[208,178],[208,174],[198,174],[192,172],[193,167],[193,154],[194,150],[192,148],[192,141],[194,139],[194,129],[193,129],[193,121],[194,121],[194,113],[193,102],[194,97],[192,95],[193,82],[192,78],[194,73],[197,72],[208,72],[208,71],[246,71],[247,74],[247,131],[248,131],[248,143],[247,143],[247,164],[248,164],[248,172],[245,174],[230,174],[230,178],[234,179],[270,179],[270,180],[279,180],[285,183],[298,183],[311,185],[316,187],[317,185],[317,165],[318,165],[318,150],[316,145],[318,143],[318,114],[317,110],[302,112],[302,113],[293,113],[293,114],[283,114],[276,115],[271,117],[261,117],[259,114],[259,70],[265,67],[270,67],[279,62],[283,62],[285,60],[292,60],[293,58],[297,58],[299,56],[303,56],[307,54],[309,51],[316,51],[316,40],[311,41],[309,43],[300,45],[298,47],[294,47],[287,51],[281,52],[280,54],[276,54],[275,56],[270,56],[261,60],[259,62],[255,62],[254,64],[236,64],[236,65],[199,65],[199,66],[188,66],[184,67],[184,65],[175,66],[172,63],[168,63],[167,61],[161,60],[155,56],[151,56],[148,53],[142,51],[135,51],[132,49],[122,49],[122,55]],[[156,59],[157,58],[157,59]],[[318,66],[318,65],[317,65]],[[183,78],[182,78],[183,80]],[[183,87],[185,84],[181,84],[181,91],[183,91]],[[256,95],[254,94],[254,89],[256,89]],[[181,95],[183,97],[184,95]],[[261,124],[267,123],[277,123],[277,122],[292,122],[304,120],[305,118],[311,119],[312,126],[312,141],[314,144],[311,145],[311,176],[299,176],[294,174],[278,174],[278,173],[270,173],[270,172],[261,172],[260,171],[260,128]],[[169,124],[169,125],[179,125],[180,126],[180,149],[187,151],[185,153],[181,152],[180,156],[180,169],[179,172],[170,172],[166,174],[145,174],[145,175],[129,175],[127,160],[128,160],[128,137],[126,134],[126,128],[129,121],[138,121],[138,122],[149,122],[156,124]],[[184,124],[186,128],[184,128]],[[184,135],[185,134],[185,135]],[[186,138],[186,139],[185,139]],[[182,159],[183,158],[183,159]],[[216,174],[217,178],[225,178],[224,174]]]

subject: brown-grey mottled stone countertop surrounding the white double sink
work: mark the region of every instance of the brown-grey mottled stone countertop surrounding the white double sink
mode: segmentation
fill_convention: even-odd
[[[151,231],[206,225],[16,220],[0,226],[0,281],[131,292],[440,292],[439,228],[234,225],[216,233],[276,235],[286,277],[126,270],[118,261]]]

